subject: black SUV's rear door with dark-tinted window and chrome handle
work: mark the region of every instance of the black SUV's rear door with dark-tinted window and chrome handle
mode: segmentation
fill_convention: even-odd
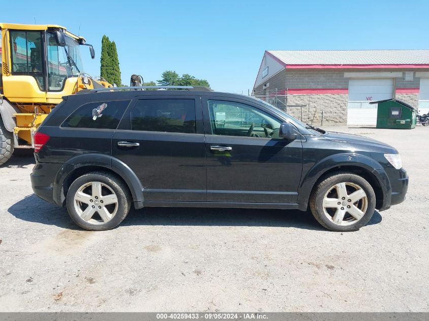
[[[145,202],[206,201],[201,99],[136,98],[112,139],[112,154],[139,177]]]

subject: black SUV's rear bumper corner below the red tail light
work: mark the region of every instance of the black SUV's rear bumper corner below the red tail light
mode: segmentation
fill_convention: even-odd
[[[37,162],[30,174],[31,188],[40,198],[55,203],[53,198],[53,183],[55,174],[61,164]]]

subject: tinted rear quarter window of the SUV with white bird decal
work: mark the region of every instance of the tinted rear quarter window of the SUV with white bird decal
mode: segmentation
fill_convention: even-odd
[[[86,103],[75,110],[61,127],[116,129],[129,101],[112,100]]]

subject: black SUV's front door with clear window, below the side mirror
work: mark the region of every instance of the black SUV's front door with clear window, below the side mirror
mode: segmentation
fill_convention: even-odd
[[[207,200],[296,203],[303,167],[301,135],[279,137],[282,120],[248,100],[202,100]]]

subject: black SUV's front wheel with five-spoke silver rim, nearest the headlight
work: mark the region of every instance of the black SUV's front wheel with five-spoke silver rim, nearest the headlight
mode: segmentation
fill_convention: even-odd
[[[365,226],[374,214],[375,204],[370,183],[350,172],[325,176],[310,196],[314,218],[337,232],[357,231]]]

